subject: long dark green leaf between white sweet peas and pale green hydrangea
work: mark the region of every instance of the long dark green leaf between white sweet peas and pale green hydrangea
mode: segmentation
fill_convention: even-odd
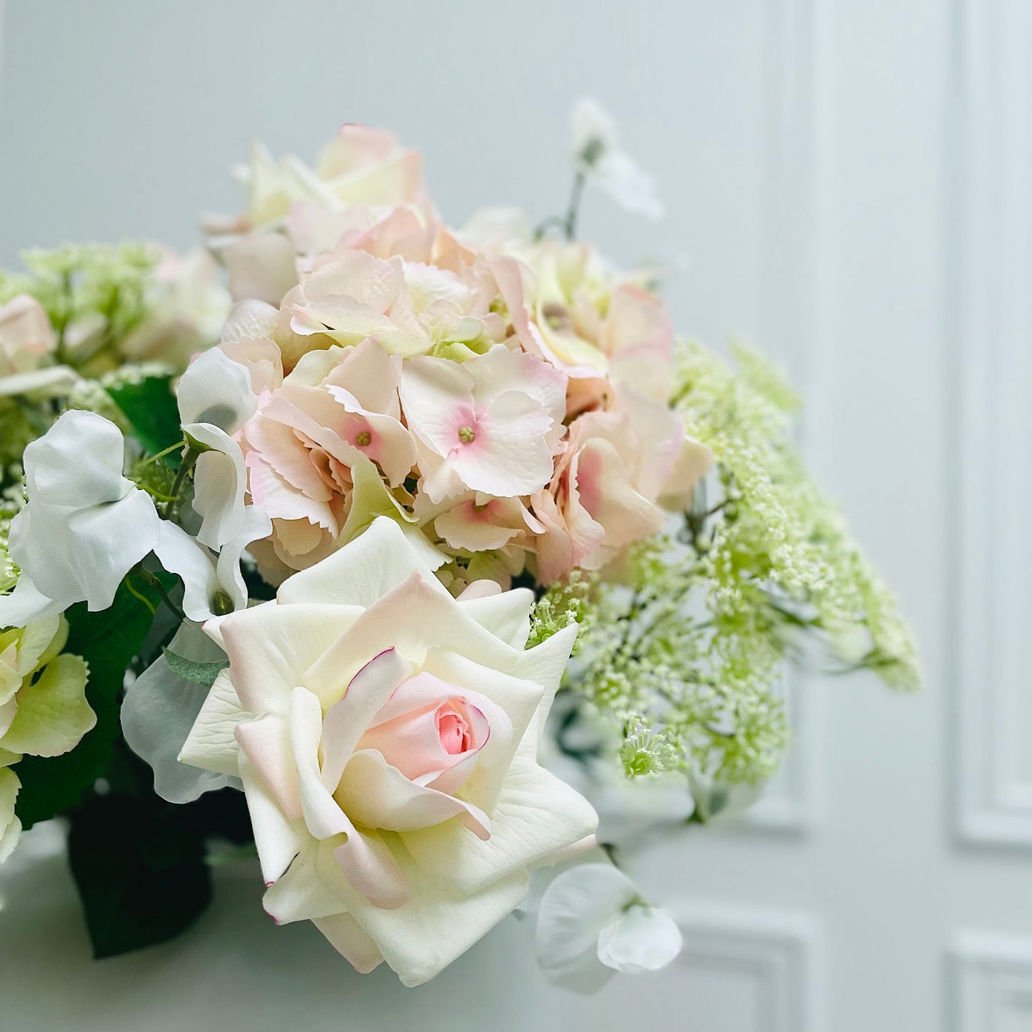
[[[166,575],[166,583],[173,583]],[[133,583],[138,594],[156,608],[160,599],[154,587]],[[22,781],[15,812],[25,828],[77,806],[83,793],[101,777],[120,733],[119,696],[125,672],[151,628],[154,614],[125,585],[109,609],[91,613],[86,603],[72,606],[65,652],[79,655],[90,668],[86,698],[97,723],[70,752],[61,756],[25,756],[15,766]]]

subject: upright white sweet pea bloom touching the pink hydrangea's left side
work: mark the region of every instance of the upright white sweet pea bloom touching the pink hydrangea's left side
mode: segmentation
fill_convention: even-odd
[[[176,399],[184,433],[203,449],[194,466],[193,508],[201,518],[197,540],[221,549],[244,529],[247,470],[232,434],[258,409],[251,374],[221,348],[212,348],[183,374]]]

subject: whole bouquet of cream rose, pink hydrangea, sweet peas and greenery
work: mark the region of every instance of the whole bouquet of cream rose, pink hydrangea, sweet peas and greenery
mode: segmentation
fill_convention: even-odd
[[[537,229],[450,229],[346,125],[254,148],[195,254],[0,276],[0,861],[61,817],[98,958],[256,859],[277,923],[406,986],[514,911],[571,988],[655,969],[596,805],[634,848],[743,808],[806,641],[916,683],[782,378],[576,241],[587,186],[660,206],[593,104],[574,137]]]

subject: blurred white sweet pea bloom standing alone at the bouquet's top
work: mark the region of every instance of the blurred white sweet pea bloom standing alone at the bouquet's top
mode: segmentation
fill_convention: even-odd
[[[616,123],[594,100],[579,100],[573,109],[574,167],[621,207],[648,219],[660,219],[664,206],[650,175],[620,150]]]

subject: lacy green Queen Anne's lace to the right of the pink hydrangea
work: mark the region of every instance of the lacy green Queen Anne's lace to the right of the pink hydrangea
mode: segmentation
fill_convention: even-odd
[[[760,356],[735,356],[737,369],[680,346],[675,408],[716,460],[691,508],[632,550],[621,584],[578,575],[538,603],[531,641],[580,621],[563,683],[575,714],[611,729],[590,753],[628,777],[768,778],[788,738],[785,662],[808,639],[838,669],[920,681],[891,592],[798,455],[795,394]]]

